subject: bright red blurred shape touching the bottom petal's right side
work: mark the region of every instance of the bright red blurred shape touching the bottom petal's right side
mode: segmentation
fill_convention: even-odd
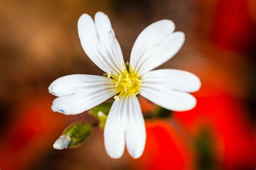
[[[147,140],[141,158],[132,160],[134,169],[193,169],[193,152],[168,121],[146,121]]]

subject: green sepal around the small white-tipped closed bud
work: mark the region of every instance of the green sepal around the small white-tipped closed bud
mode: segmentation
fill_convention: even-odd
[[[86,123],[75,123],[67,127],[62,135],[69,135],[70,144],[69,148],[78,147],[81,145],[91,134],[92,126]]]

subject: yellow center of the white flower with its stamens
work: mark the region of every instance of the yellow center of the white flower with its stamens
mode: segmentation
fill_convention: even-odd
[[[137,95],[139,94],[139,87],[142,80],[140,79],[140,76],[131,69],[129,63],[126,63],[125,65],[126,68],[124,68],[124,71],[119,74],[119,76],[114,77],[117,95]],[[118,99],[118,96],[115,96],[114,99]]]

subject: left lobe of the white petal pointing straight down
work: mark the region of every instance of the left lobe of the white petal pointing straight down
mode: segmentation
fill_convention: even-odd
[[[124,110],[127,110],[125,98],[115,100],[104,128],[104,144],[107,154],[118,159],[122,157],[125,147]]]

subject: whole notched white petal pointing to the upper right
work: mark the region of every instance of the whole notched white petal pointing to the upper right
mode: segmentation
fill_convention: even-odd
[[[183,32],[174,32],[174,23],[164,19],[145,28],[132,47],[130,64],[140,75],[167,62],[185,41]]]

